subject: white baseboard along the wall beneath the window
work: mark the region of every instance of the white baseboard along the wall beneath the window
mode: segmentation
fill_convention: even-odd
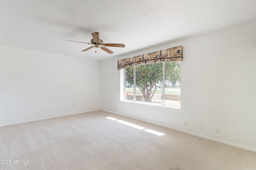
[[[227,142],[227,141],[222,141],[222,140],[219,140],[219,139],[216,139],[216,138],[212,138],[212,137],[200,135],[200,134],[197,134],[197,133],[193,133],[193,132],[190,132],[190,131],[184,131],[184,130],[177,129],[177,128],[174,128],[174,127],[168,127],[166,125],[161,125],[161,124],[158,124],[158,123],[145,121],[145,120],[142,120],[142,119],[138,119],[136,117],[130,117],[130,116],[123,115],[123,114],[120,114],[120,113],[116,113],[116,112],[113,112],[113,111],[108,111],[108,110],[104,110],[104,109],[100,109],[100,110],[106,111],[108,113],[113,113],[115,115],[120,115],[120,116],[128,117],[128,118],[131,118],[131,119],[135,119],[135,120],[143,121],[143,122],[146,122],[146,123],[150,123],[152,125],[157,125],[157,126],[160,126],[160,127],[165,127],[167,129],[172,129],[172,130],[179,131],[179,132],[182,132],[182,133],[187,133],[189,135],[193,135],[193,136],[196,136],[196,137],[201,137],[201,138],[204,138],[204,139],[208,139],[210,141],[222,143],[222,144],[229,145],[229,146],[232,146],[232,147],[248,150],[248,151],[251,151],[251,152],[256,152],[256,149],[254,149],[254,148],[249,148],[249,147],[245,147],[245,146],[242,146],[242,145],[237,145],[237,144],[234,144],[234,143],[230,143],[230,142]]]

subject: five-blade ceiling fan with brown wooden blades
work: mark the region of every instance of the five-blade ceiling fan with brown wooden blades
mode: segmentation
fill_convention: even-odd
[[[93,47],[96,47],[96,48],[100,48],[100,49],[106,51],[109,54],[112,54],[114,52],[111,51],[110,49],[107,49],[106,47],[125,47],[124,44],[103,43],[103,40],[99,39],[99,35],[100,35],[100,33],[98,33],[98,32],[92,33],[91,43],[86,43],[86,44],[91,44],[91,45],[94,45],[94,46],[88,47],[87,49],[84,49],[83,51],[87,51],[87,50],[89,50]],[[66,40],[66,41],[71,41],[71,40]],[[84,42],[80,42],[80,41],[73,41],[73,42],[84,43]],[[95,51],[95,53],[96,53],[96,51]]]

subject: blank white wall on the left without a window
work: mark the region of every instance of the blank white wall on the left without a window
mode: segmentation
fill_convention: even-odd
[[[0,45],[0,126],[96,109],[100,62]]]

